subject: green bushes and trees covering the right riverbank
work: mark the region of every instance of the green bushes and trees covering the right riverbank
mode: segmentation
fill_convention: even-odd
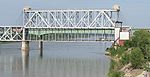
[[[124,77],[135,69],[150,72],[150,32],[146,30],[135,31],[124,46],[108,48],[107,52],[112,60],[108,77]],[[140,73],[130,75],[135,77]]]

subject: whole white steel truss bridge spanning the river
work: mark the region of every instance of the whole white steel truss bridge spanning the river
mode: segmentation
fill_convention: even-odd
[[[0,26],[0,41],[115,41],[118,9],[32,10],[23,25]]]

